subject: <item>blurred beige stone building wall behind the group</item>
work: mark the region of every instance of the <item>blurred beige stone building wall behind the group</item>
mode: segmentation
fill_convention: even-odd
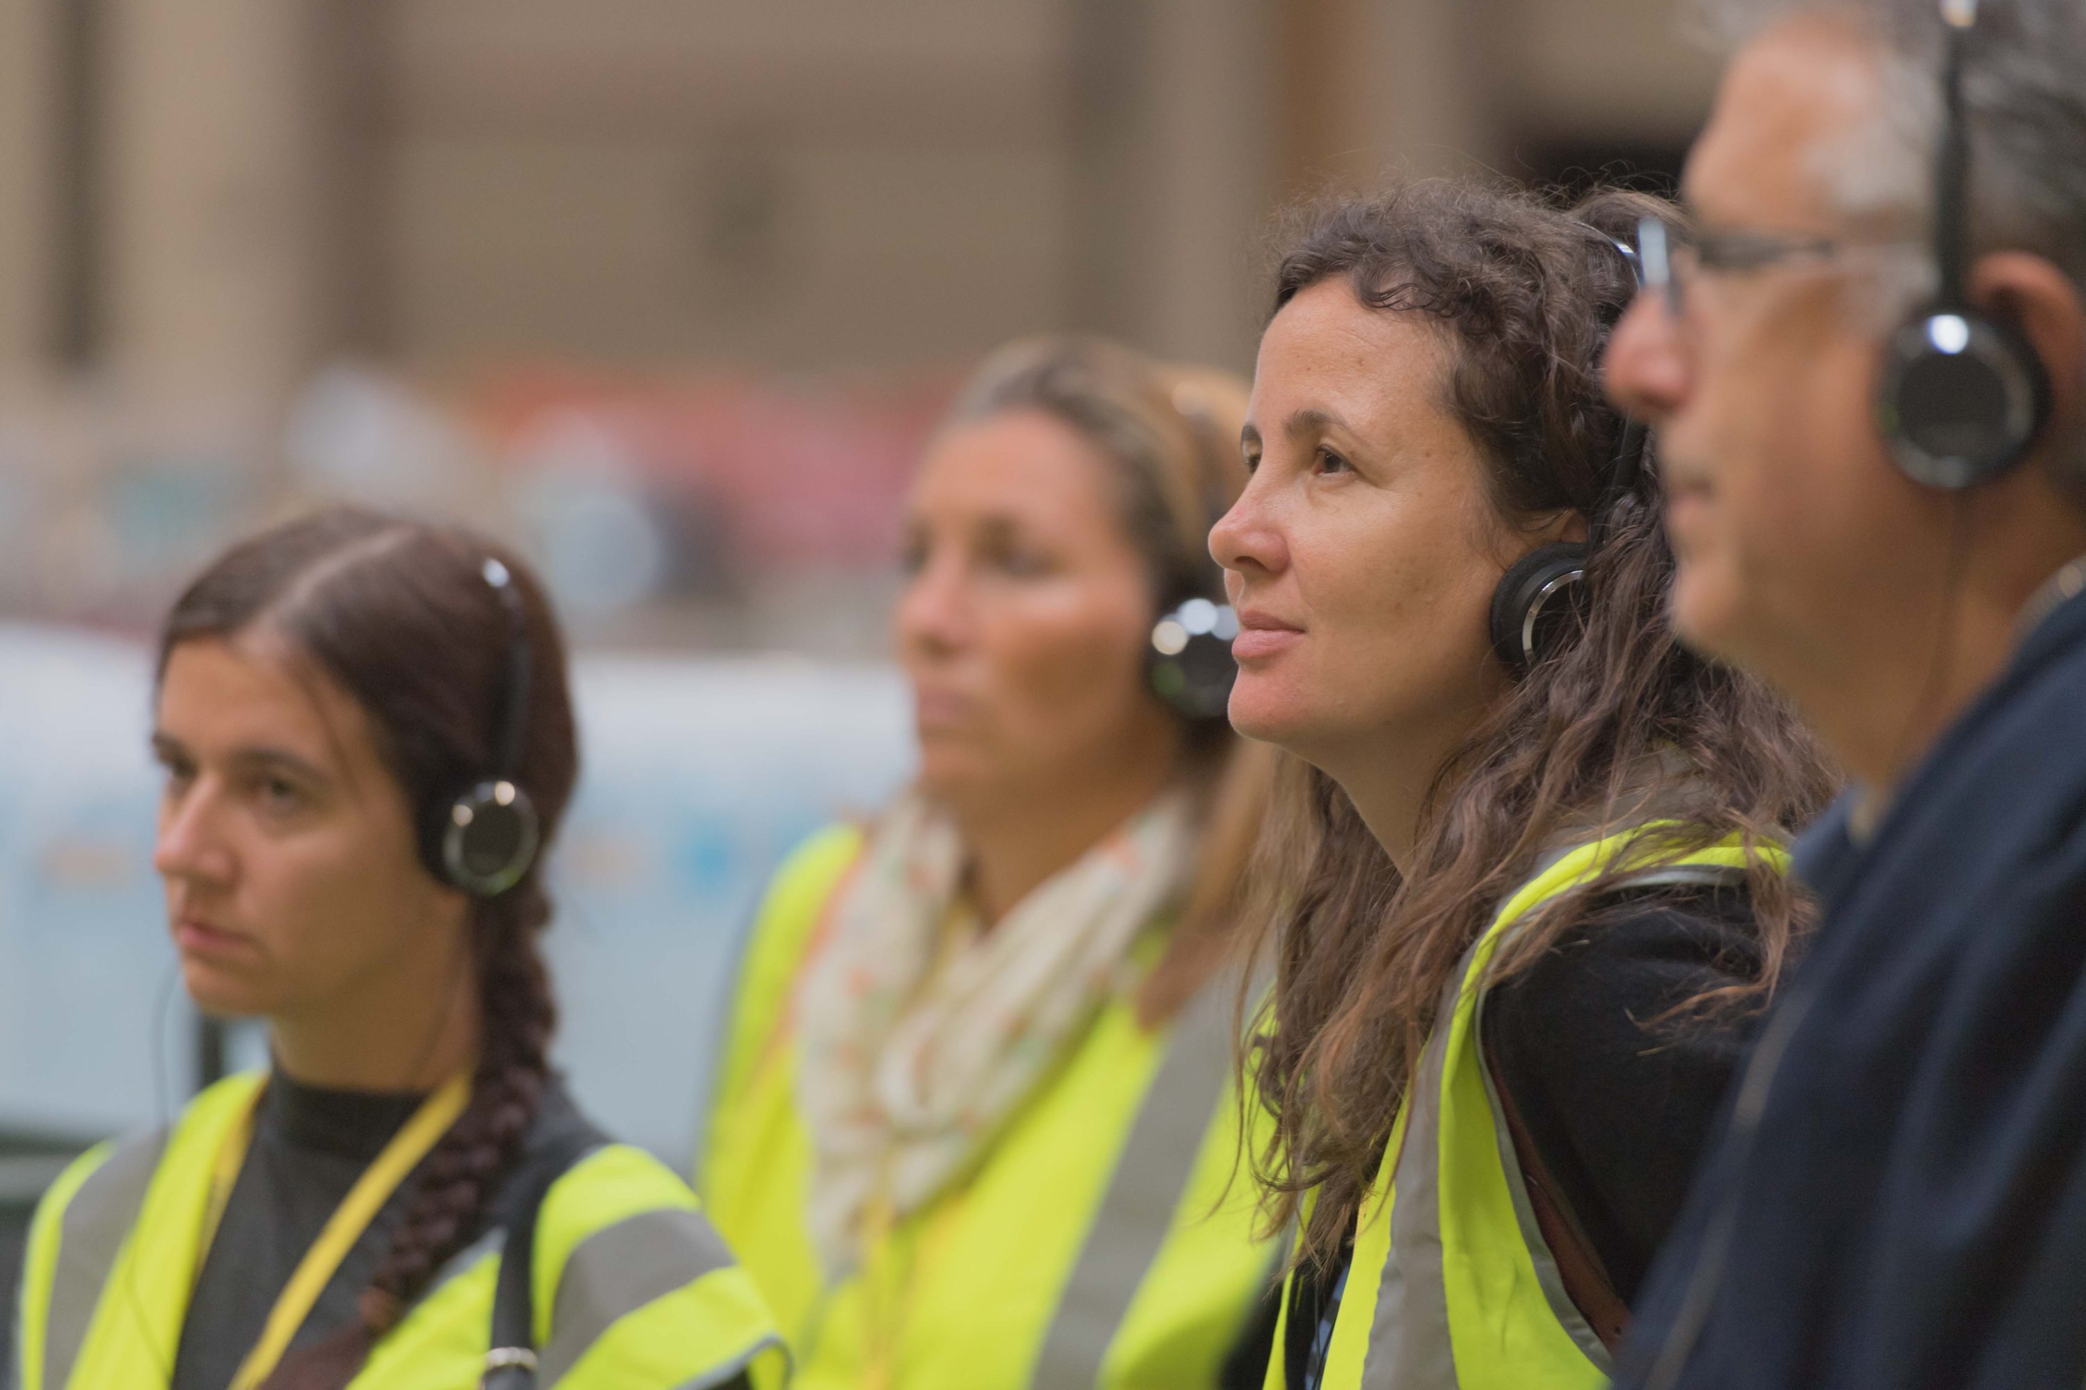
[[[1283,202],[1671,171],[1711,75],[1669,0],[0,0],[0,613],[188,563],[330,363],[1245,369]]]

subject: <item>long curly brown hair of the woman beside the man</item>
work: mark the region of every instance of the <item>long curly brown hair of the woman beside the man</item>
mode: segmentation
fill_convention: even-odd
[[[1635,294],[1623,246],[1644,213],[1675,215],[1621,190],[1562,206],[1487,181],[1421,181],[1316,213],[1277,273],[1277,313],[1343,279],[1368,308],[1431,321],[1448,346],[1441,404],[1477,444],[1494,511],[1512,523],[1579,513],[1594,542],[1581,625],[1439,769],[1410,875],[1331,777],[1285,761],[1258,873],[1275,988],[1241,1067],[1272,1117],[1254,1155],[1270,1219],[1297,1219],[1302,1194],[1316,1192],[1300,1259],[1341,1246],[1444,986],[1546,844],[1642,823],[1656,784],[1658,817],[1677,821],[1660,836],[1765,846],[1832,792],[1790,709],[1679,646],[1667,623],[1658,477],[1600,388],[1608,331]],[[1683,775],[1665,771],[1675,765]],[[1804,925],[1794,890],[1761,857],[1746,886],[1758,971],[1683,1013],[1763,1000],[1790,959]],[[1494,959],[1491,982],[1587,923],[1606,888],[1539,911]]]

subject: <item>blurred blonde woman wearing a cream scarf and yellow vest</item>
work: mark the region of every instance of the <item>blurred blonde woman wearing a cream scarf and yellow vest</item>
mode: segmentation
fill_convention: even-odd
[[[1222,717],[1206,548],[1243,396],[1016,344],[926,450],[895,617],[920,777],[778,873],[699,1175],[799,1386],[1260,1377],[1222,965],[1266,761]]]

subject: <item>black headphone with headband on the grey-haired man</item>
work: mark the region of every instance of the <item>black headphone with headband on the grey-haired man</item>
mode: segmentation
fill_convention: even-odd
[[[1944,0],[1942,21],[1942,138],[1934,177],[1940,292],[1892,333],[1875,419],[1907,477],[1959,490],[1998,477],[2028,454],[2051,413],[2051,379],[2011,323],[1969,304],[1963,48],[1978,23],[1978,0]]]

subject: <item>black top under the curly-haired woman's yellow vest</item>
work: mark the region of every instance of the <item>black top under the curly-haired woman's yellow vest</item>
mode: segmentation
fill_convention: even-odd
[[[1756,971],[1744,892],[1663,890],[1635,904],[1621,896],[1485,998],[1494,1079],[1625,1302],[1688,1196],[1756,1023],[1656,1019]],[[1300,1269],[1291,1286],[1283,1363],[1293,1390],[1306,1386],[1345,1267],[1343,1252],[1323,1273]]]

